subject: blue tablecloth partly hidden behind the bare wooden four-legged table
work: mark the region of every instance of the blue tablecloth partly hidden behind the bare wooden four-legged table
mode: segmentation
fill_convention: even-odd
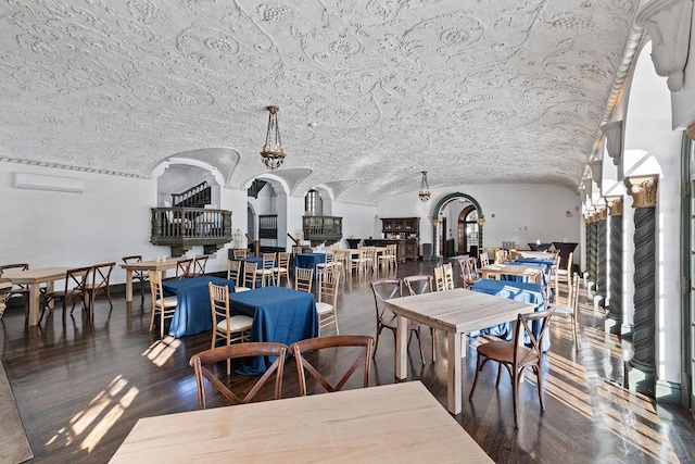
[[[545,294],[543,287],[539,284],[528,284],[521,281],[505,281],[493,279],[480,279],[472,287],[472,291],[481,293],[494,294],[497,297],[508,298],[510,300],[523,301],[525,303],[535,304],[535,311],[545,311]],[[541,324],[538,321],[532,325],[533,335],[538,337],[541,334]],[[490,327],[483,330],[469,334],[471,337],[478,335],[494,335],[505,340],[511,341],[514,338],[514,323],[508,322],[498,326]],[[525,342],[530,343],[528,335],[525,336]],[[543,340],[543,351],[551,348],[551,337],[546,336]]]

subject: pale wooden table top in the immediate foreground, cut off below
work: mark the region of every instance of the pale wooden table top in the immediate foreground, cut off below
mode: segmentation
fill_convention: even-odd
[[[419,381],[141,418],[112,463],[492,463]]]

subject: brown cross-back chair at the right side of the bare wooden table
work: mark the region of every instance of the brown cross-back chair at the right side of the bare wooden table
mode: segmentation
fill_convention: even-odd
[[[531,367],[535,374],[539,389],[539,400],[541,402],[541,410],[545,410],[543,402],[543,376],[541,365],[543,363],[543,349],[542,340],[546,336],[549,327],[553,310],[541,311],[536,313],[519,314],[517,318],[517,325],[514,330],[514,340],[511,341],[490,341],[488,343],[480,344],[477,348],[478,351],[478,365],[476,367],[476,378],[473,379],[473,386],[470,389],[469,400],[472,400],[476,392],[476,386],[478,385],[478,374],[482,371],[488,361],[496,361],[500,363],[497,368],[497,383],[500,387],[500,377],[502,375],[502,366],[506,367],[511,377],[511,390],[514,402],[514,428],[519,428],[519,421],[517,414],[517,403],[519,397],[519,384],[523,369]],[[539,337],[533,336],[531,325],[534,321],[541,323],[541,331]],[[523,334],[528,334],[531,339],[531,346],[523,344]]]

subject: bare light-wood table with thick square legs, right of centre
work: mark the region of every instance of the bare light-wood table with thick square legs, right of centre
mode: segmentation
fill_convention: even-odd
[[[462,336],[509,321],[518,314],[532,312],[533,304],[508,300],[464,288],[434,291],[386,300],[396,314],[395,376],[407,378],[407,319],[446,333],[447,409],[452,414],[462,412],[463,361]]]

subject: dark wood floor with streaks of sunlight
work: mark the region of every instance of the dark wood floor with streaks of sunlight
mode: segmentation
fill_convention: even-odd
[[[408,262],[400,277],[431,274],[431,263]],[[343,334],[376,329],[367,279],[345,281],[339,299]],[[541,414],[535,379],[521,387],[520,425],[514,429],[511,387],[506,375],[495,389],[496,369],[488,366],[472,402],[475,343],[464,368],[464,411],[456,421],[497,463],[693,462],[695,422],[677,406],[656,405],[619,387],[626,346],[603,330],[603,315],[582,296],[580,350],[563,324],[552,328],[552,349],[544,367],[546,411]],[[97,302],[94,321],[77,309],[62,323],[58,311],[43,327],[24,325],[21,309],[1,324],[2,362],[36,455],[33,462],[106,462],[140,417],[195,410],[190,355],[208,348],[210,335],[161,342],[148,331],[149,297],[127,306],[115,296],[113,311]],[[416,342],[410,350],[409,379],[420,379],[446,404],[446,356],[440,337],[439,359],[431,362],[429,330],[421,365]],[[394,343],[386,331],[379,343],[372,385],[392,384]],[[321,354],[323,355],[323,354]],[[330,355],[321,363],[336,362]],[[248,378],[233,376],[239,387]],[[351,387],[356,387],[355,384]],[[265,393],[264,393],[265,394]],[[286,369],[283,397],[299,394],[293,365]],[[224,404],[217,400],[216,404]]]

